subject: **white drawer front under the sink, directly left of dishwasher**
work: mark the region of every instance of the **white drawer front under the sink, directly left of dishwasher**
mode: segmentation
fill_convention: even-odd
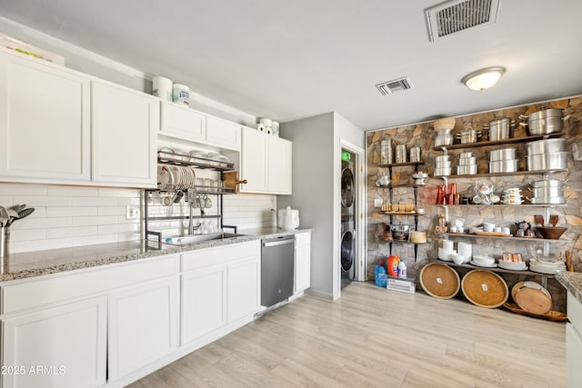
[[[226,264],[240,259],[260,257],[261,241],[216,246],[199,249],[180,256],[182,272],[203,268],[208,265]]]

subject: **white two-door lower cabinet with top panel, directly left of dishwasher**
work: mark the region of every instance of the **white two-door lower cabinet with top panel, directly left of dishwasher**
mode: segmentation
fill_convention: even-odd
[[[180,345],[234,330],[260,310],[260,240],[182,254],[181,271]]]

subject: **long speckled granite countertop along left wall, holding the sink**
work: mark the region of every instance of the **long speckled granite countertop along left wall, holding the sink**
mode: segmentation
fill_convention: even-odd
[[[310,232],[311,229],[286,231],[277,227],[239,230],[237,237],[211,240],[196,244],[162,244],[139,240],[114,244],[95,244],[73,248],[51,249],[46,251],[11,254],[8,257],[7,271],[0,274],[0,283],[18,279],[57,274],[99,265],[123,263],[132,260],[145,259],[164,254],[180,254],[197,249],[214,246],[245,243],[287,234]]]

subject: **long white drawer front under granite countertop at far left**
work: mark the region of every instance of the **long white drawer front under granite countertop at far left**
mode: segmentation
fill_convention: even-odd
[[[14,313],[170,276],[177,274],[177,263],[177,255],[167,255],[9,284],[0,288],[0,313]]]

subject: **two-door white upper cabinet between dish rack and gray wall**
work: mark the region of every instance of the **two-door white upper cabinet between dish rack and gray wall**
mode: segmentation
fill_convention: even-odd
[[[242,193],[291,194],[292,143],[252,128],[243,128]]]

